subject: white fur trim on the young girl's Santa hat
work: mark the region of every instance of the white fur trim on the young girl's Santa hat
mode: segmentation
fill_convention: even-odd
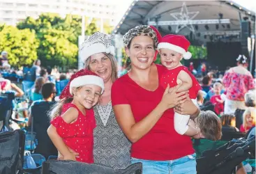
[[[102,78],[94,75],[84,75],[77,77],[73,79],[73,81],[70,81],[70,87],[69,87],[69,92],[72,95],[72,88],[73,87],[80,87],[84,85],[97,85],[100,86],[101,88],[101,93],[104,91],[104,81]]]

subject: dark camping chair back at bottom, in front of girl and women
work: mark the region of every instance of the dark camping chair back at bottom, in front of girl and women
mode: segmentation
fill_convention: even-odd
[[[86,164],[78,161],[45,161],[43,163],[43,174],[70,174],[70,173],[97,173],[97,174],[142,174],[142,163],[135,163],[123,170],[100,164]]]

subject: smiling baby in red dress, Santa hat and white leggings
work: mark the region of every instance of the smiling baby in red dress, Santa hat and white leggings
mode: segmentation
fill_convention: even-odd
[[[189,59],[192,55],[187,52],[190,42],[183,35],[165,35],[158,44],[160,60],[167,70],[160,79],[160,84],[164,88],[182,83],[178,92],[189,90],[190,98],[196,103],[196,97],[200,87],[197,79],[191,74],[188,68],[181,64],[181,59]],[[190,116],[174,113],[174,129],[179,134],[195,136],[199,133],[199,128],[195,122],[190,120]]]

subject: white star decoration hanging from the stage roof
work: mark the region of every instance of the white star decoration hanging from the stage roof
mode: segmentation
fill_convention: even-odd
[[[182,4],[180,13],[170,13],[170,15],[174,17],[174,19],[176,19],[177,21],[182,21],[182,24],[178,24],[176,26],[175,33],[179,33],[179,31],[181,31],[181,29],[185,27],[188,28],[190,31],[195,32],[193,24],[190,24],[190,20],[194,19],[198,15],[198,13],[199,11],[188,12],[188,8],[185,2],[183,2]]]

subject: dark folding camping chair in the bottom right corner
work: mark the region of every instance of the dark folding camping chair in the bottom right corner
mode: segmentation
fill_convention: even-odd
[[[250,157],[255,149],[255,136],[251,139],[229,141],[216,150],[206,150],[197,159],[197,174],[232,174],[236,166]]]

